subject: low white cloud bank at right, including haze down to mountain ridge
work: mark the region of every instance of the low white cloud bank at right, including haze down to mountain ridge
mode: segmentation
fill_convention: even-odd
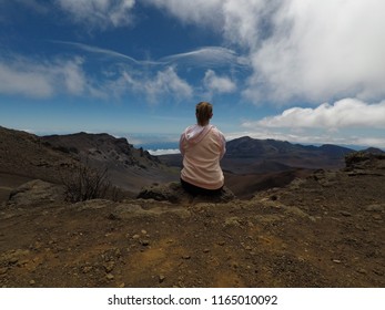
[[[385,147],[385,101],[366,103],[344,99],[315,108],[291,107],[280,115],[244,121],[245,132],[256,138],[303,144],[338,144]],[[236,133],[232,134],[232,136]]]

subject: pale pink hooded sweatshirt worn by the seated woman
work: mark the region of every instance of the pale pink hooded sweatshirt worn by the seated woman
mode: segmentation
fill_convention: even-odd
[[[225,145],[223,134],[213,125],[188,127],[180,140],[181,178],[202,188],[221,188],[224,177],[220,161],[226,152]]]

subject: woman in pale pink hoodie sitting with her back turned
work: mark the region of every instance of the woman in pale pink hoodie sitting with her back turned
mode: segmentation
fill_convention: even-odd
[[[180,138],[181,184],[192,195],[219,195],[224,185],[220,161],[226,152],[226,141],[223,133],[210,124],[211,103],[196,104],[195,115],[197,124],[189,126]]]

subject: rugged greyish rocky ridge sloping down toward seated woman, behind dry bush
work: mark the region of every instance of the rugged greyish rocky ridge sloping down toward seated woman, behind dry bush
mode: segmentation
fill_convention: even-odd
[[[125,138],[78,133],[43,136],[41,140],[55,149],[87,162],[91,167],[108,168],[111,182],[132,193],[152,183],[178,179],[178,172],[162,165],[148,151],[135,148]]]

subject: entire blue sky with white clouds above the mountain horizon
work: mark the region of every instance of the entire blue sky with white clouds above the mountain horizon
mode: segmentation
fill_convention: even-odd
[[[382,0],[0,0],[0,125],[385,149]]]

